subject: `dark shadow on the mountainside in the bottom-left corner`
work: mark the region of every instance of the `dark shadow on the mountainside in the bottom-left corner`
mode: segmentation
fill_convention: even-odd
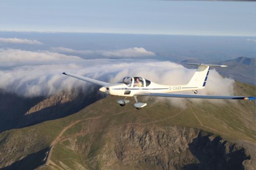
[[[45,158],[49,148],[45,148],[36,153],[31,153],[22,160],[12,163],[11,165],[0,168],[1,170],[34,170],[45,163]]]

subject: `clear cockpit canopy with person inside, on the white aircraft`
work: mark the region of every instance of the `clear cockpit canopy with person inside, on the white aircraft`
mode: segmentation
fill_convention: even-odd
[[[124,83],[128,87],[147,87],[151,82],[142,77],[124,77],[117,83]]]

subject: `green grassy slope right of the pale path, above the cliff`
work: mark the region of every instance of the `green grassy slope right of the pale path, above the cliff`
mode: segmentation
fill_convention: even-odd
[[[243,84],[237,83],[235,85],[238,95],[255,94],[255,86],[246,85],[245,88],[242,88],[241,85]],[[160,105],[159,103],[148,103],[146,108],[138,111],[132,105],[116,107],[115,100],[116,97],[108,97],[77,113],[77,116],[84,120],[63,134],[63,142],[60,144],[65,145],[64,143],[66,143],[66,146],[54,150],[53,159],[58,166],[62,166],[59,162],[67,163],[66,165],[69,167],[74,167],[75,164],[80,163],[84,164],[85,168],[88,168],[87,166],[92,163],[91,158],[95,154],[102,153],[103,147],[111,143],[109,135],[102,135],[113,133],[118,128],[130,124],[137,124],[138,126],[157,124],[158,126],[194,127],[215,133],[230,141],[246,140],[255,144],[255,102],[225,101],[224,104],[219,102],[213,104],[203,100],[199,104],[188,102],[186,109],[183,110],[175,106],[170,107],[165,102]],[[105,107],[105,105],[109,107]],[[181,110],[182,112],[177,115]],[[198,122],[194,114],[202,122],[203,126]],[[91,119],[92,117],[95,119]],[[85,132],[86,129],[88,130],[87,132]],[[77,161],[65,161],[67,160],[67,155],[61,153],[63,148],[67,149],[69,147],[69,141],[77,142],[78,145],[79,143],[88,143],[90,150],[85,149],[87,156],[81,156],[83,154],[76,153],[77,155],[74,157],[80,155],[76,159]],[[81,148],[81,150],[83,149]],[[70,150],[70,153],[73,152],[73,150]],[[82,160],[87,160],[87,162]],[[96,162],[93,167],[99,168],[101,164],[106,163]]]

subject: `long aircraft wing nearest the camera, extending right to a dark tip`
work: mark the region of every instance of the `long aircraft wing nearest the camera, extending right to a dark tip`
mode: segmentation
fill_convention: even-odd
[[[136,95],[158,96],[158,97],[179,97],[179,98],[197,98],[197,99],[238,99],[238,100],[255,100],[255,97],[246,96],[224,96],[224,95],[186,95],[175,93],[139,93]]]

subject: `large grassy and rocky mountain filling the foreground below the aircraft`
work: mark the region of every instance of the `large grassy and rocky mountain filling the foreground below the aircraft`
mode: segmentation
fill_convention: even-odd
[[[235,95],[255,94],[254,85],[236,82],[234,89]],[[148,106],[137,110],[130,103],[120,107],[116,99],[0,133],[0,168],[256,168],[255,102],[194,99],[179,107],[168,99],[140,98]],[[24,117],[61,101],[69,98],[42,99]]]

